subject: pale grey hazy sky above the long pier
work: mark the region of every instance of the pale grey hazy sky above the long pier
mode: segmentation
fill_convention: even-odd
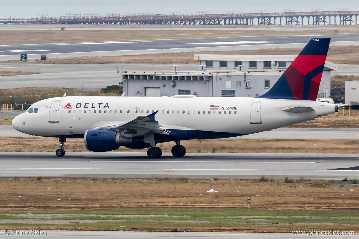
[[[358,0],[0,0],[0,17],[31,17],[45,14],[66,16],[66,14],[135,14],[167,13],[196,14],[209,11],[209,14],[224,14],[227,11],[255,13],[256,10],[268,12],[295,11],[336,11],[349,8],[359,11]]]

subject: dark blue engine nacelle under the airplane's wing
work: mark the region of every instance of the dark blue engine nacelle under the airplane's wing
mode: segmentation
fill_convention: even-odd
[[[86,130],[84,140],[86,148],[93,152],[111,151],[132,144],[132,138],[121,137],[119,132],[106,129]]]

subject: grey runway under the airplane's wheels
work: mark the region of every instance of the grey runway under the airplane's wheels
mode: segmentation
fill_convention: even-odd
[[[0,152],[0,177],[117,177],[117,178],[358,178],[357,154],[187,153],[174,158],[163,153]],[[171,167],[171,169],[170,169]]]

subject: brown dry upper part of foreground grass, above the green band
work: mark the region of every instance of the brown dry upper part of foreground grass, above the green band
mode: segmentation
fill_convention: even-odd
[[[336,182],[325,181],[325,183],[330,185]],[[218,192],[207,193],[210,189]],[[348,187],[314,187],[311,180],[285,183],[284,180],[211,181],[188,178],[168,180],[1,178],[0,211],[7,207],[12,208],[11,211],[16,211],[41,205],[47,205],[48,209],[43,209],[45,211],[58,207],[64,210],[116,206],[246,207],[248,197],[251,198],[252,208],[310,209],[318,206],[332,209],[359,208],[359,190],[349,189]],[[71,200],[68,200],[69,198]]]

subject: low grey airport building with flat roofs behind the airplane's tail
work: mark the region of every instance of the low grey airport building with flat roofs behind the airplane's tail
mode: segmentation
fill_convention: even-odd
[[[199,97],[255,97],[267,92],[296,56],[195,54],[199,68],[168,72],[121,73],[125,96],[195,95]],[[330,97],[330,72],[326,62],[318,97]]]

